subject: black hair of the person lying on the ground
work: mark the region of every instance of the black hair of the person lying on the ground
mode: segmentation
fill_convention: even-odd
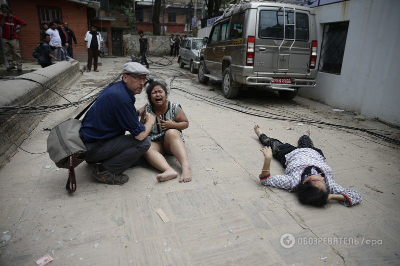
[[[300,183],[296,187],[298,200],[302,204],[324,206],[328,202],[329,192],[323,191],[314,185],[311,181]]]

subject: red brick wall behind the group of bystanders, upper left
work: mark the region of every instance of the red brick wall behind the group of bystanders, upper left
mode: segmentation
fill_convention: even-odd
[[[37,6],[54,6],[61,9],[62,21],[69,23],[69,28],[76,36],[77,46],[73,47],[73,55],[79,61],[87,60],[87,52],[84,49],[83,37],[88,30],[86,7],[83,4],[66,0],[11,0],[11,12],[27,23],[19,32],[19,46],[24,61],[34,61],[32,57],[33,47],[39,43],[40,22],[37,14]]]

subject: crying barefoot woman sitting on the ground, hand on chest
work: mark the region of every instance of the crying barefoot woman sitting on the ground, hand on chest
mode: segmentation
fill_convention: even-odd
[[[158,174],[159,182],[177,177],[177,173],[166,162],[163,154],[172,154],[179,162],[182,174],[179,182],[191,181],[190,166],[187,159],[186,147],[182,130],[189,126],[186,115],[178,103],[168,101],[166,84],[150,79],[146,87],[148,104],[144,105],[139,113],[151,113],[155,122],[148,135],[151,146],[143,155],[149,164],[162,171]]]

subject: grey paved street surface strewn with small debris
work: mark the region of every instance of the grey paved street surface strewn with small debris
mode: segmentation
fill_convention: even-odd
[[[85,86],[93,88],[94,82],[111,77],[126,59],[103,61],[100,72],[84,73],[72,89],[87,93]],[[69,196],[64,169],[46,154],[19,151],[0,169],[0,265],[34,265],[46,253],[54,258],[50,265],[399,264],[398,147],[362,132],[248,113],[388,130],[397,138],[398,130],[357,122],[351,113],[333,112],[301,97],[282,101],[273,93],[248,90],[226,100],[219,84],[199,84],[176,63],[150,70],[171,87],[195,94],[172,89],[169,95],[189,119],[184,138],[192,182],[157,183],[158,171],[142,163],[125,172],[130,177],[126,184],[109,186],[91,179],[92,166],[81,164],[77,191]],[[83,96],[81,91],[70,99]],[[137,98],[137,106],[146,102],[144,93]],[[42,128],[82,108],[49,114],[22,147],[45,150],[48,131]],[[336,182],[357,190],[363,201],[350,208],[336,202],[314,208],[299,204],[294,193],[262,186],[254,124],[292,144],[310,129]],[[179,172],[177,161],[167,160]],[[275,160],[271,171],[283,173]],[[163,223],[156,209],[170,222]],[[280,244],[285,233],[295,238],[291,248]],[[291,240],[288,236],[283,244]]]

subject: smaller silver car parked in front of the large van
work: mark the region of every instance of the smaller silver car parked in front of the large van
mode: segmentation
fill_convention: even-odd
[[[188,65],[191,73],[197,73],[199,63],[198,52],[201,48],[205,47],[205,44],[202,38],[185,38],[179,47],[179,67],[183,68],[184,65]]]

